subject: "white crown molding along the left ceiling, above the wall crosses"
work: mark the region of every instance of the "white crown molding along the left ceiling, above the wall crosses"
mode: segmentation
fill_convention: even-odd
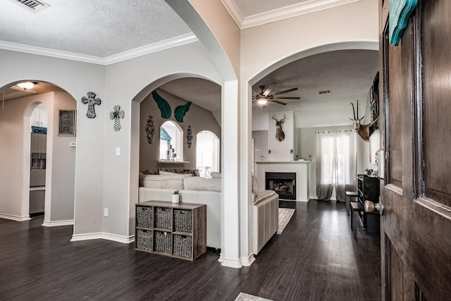
[[[120,54],[114,54],[113,56],[106,56],[105,58],[3,41],[0,41],[0,49],[24,52],[26,54],[37,54],[40,56],[51,56],[58,59],[68,59],[71,61],[95,63],[98,65],[108,66],[112,63],[118,63],[121,61],[126,61],[128,59],[136,58],[138,56],[144,56],[146,54],[152,54],[154,52],[162,51],[165,49],[178,47],[184,44],[196,42],[197,40],[198,40],[197,37],[193,33],[189,33],[186,35],[173,37],[171,39],[166,39],[164,41],[157,42],[154,44],[149,44],[143,47],[138,47],[128,51],[124,51],[121,52]]]

